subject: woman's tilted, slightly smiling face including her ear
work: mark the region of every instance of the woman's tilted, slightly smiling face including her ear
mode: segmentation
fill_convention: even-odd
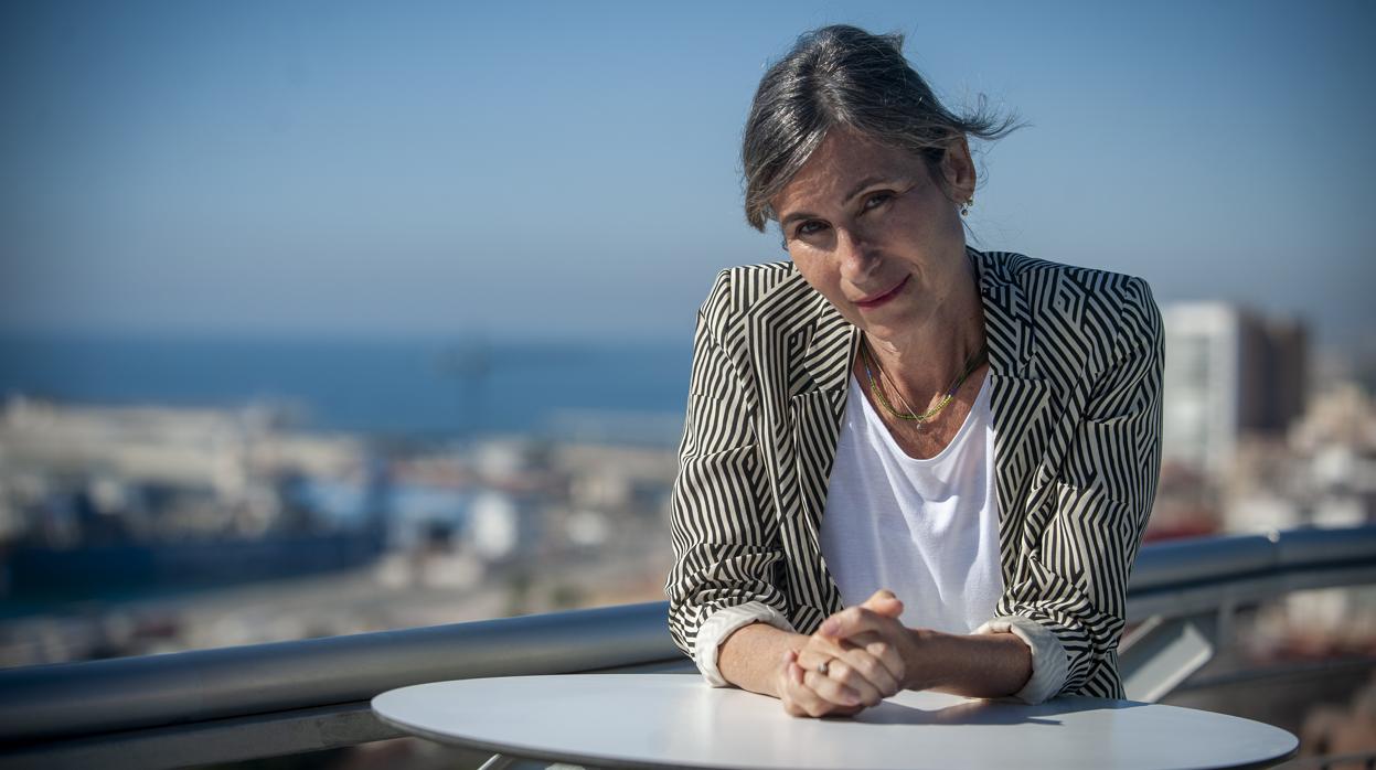
[[[923,158],[832,131],[771,201],[802,276],[881,340],[919,327],[970,280],[955,204],[974,190],[963,142],[940,169],[949,197]]]

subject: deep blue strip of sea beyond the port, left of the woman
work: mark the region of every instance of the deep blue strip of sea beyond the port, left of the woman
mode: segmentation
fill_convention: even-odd
[[[0,336],[0,397],[239,408],[305,430],[671,444],[691,342]]]

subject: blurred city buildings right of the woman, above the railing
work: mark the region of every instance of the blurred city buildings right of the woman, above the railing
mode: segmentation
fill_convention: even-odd
[[[1303,322],[1167,305],[1161,487],[1149,536],[1355,525],[1376,517],[1376,410],[1314,386]]]

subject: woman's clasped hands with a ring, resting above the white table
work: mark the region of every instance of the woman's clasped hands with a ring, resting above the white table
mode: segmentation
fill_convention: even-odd
[[[775,689],[793,716],[850,716],[905,689],[914,641],[903,602],[877,591],[828,617],[801,649],[783,654]]]

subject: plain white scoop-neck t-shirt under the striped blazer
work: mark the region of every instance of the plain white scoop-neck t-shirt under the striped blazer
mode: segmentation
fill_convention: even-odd
[[[899,447],[854,377],[846,404],[821,517],[821,554],[842,604],[889,588],[903,600],[904,626],[974,631],[1003,593],[989,378],[930,459]]]

